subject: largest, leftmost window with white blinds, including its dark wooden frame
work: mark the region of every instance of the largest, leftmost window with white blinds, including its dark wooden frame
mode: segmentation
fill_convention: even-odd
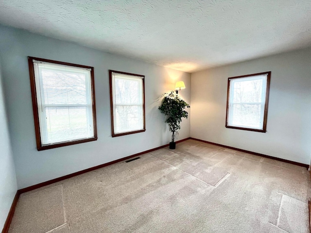
[[[93,67],[28,62],[37,150],[97,140]]]

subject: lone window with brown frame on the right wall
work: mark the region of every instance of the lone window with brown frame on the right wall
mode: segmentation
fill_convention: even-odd
[[[271,71],[228,78],[226,128],[266,132]]]

